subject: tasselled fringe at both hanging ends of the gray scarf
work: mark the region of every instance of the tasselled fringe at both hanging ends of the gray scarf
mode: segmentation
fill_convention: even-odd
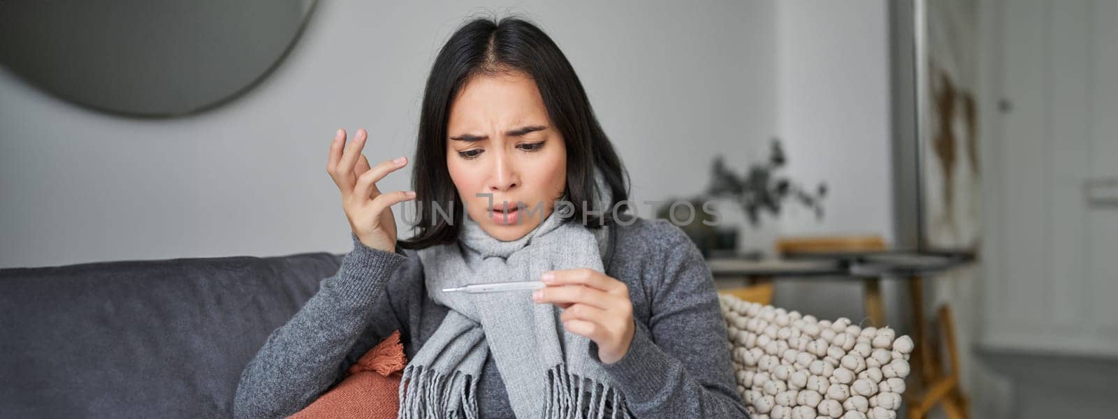
[[[566,364],[548,369],[548,401],[543,417],[561,419],[628,419],[617,389],[571,373]],[[439,374],[423,365],[408,365],[399,388],[398,419],[477,419],[477,380],[455,371]],[[461,402],[451,410],[451,398]]]

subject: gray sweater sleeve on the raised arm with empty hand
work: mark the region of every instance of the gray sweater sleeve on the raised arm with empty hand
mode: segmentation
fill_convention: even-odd
[[[386,284],[408,258],[370,248],[352,232],[350,237],[353,250],[342,258],[338,273],[322,279],[319,292],[272,332],[241,372],[234,398],[236,418],[283,418],[310,404],[339,380],[373,314],[386,312],[378,307],[387,304],[381,298]],[[396,317],[381,315],[379,322]]]

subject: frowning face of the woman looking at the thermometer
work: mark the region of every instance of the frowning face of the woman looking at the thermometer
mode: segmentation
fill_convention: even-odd
[[[498,240],[524,237],[562,197],[567,147],[523,73],[466,82],[451,105],[447,134],[446,166],[458,197]]]

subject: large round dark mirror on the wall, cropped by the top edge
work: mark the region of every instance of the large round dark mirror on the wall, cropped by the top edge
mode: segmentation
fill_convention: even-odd
[[[252,89],[318,0],[0,1],[0,64],[65,101],[119,115],[198,113]]]

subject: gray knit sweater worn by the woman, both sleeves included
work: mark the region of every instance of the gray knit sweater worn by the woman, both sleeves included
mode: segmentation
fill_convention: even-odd
[[[726,326],[710,270],[694,244],[665,220],[615,226],[606,274],[625,283],[636,332],[628,352],[605,365],[635,418],[745,418]],[[411,359],[447,308],[427,297],[423,265],[411,250],[364,246],[276,328],[240,377],[237,418],[281,418],[314,401],[395,330]],[[598,361],[597,346],[589,356]],[[600,362],[600,361],[599,361]],[[477,383],[482,418],[512,418],[496,363]]]

